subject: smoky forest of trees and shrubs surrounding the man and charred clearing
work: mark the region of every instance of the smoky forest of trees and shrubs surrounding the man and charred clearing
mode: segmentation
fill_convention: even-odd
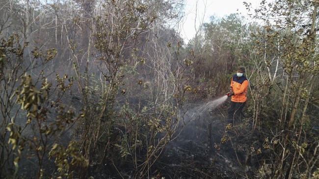
[[[256,22],[211,17],[187,44],[183,3],[2,0],[0,178],[160,177],[186,105],[228,92],[239,65],[258,177],[318,178],[319,1],[262,1]]]

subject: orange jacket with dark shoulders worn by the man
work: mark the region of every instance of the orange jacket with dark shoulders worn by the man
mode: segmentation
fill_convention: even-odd
[[[247,87],[248,87],[248,80],[245,76],[238,77],[235,74],[232,78],[230,87],[233,88],[234,95],[232,96],[232,101],[243,103],[247,100]]]

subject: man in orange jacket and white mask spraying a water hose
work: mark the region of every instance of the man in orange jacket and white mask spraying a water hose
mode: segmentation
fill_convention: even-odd
[[[232,97],[230,102],[230,108],[228,112],[228,121],[230,123],[239,120],[242,117],[242,109],[246,104],[247,87],[249,85],[247,78],[243,75],[245,73],[245,67],[239,66],[237,73],[233,76],[229,92],[226,94],[228,97]]]

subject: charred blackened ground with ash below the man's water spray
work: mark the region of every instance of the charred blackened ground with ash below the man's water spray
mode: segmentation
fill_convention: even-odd
[[[158,175],[165,179],[259,178],[262,147],[248,119],[234,124],[218,109],[187,121],[160,158]]]

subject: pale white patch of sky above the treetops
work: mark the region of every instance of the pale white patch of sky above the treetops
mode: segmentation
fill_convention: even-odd
[[[198,4],[197,9],[199,9],[197,11],[197,17],[195,16],[196,1]],[[241,15],[249,19],[249,16],[247,15],[248,11],[244,6],[243,1],[251,3],[252,8],[258,7],[261,2],[261,0],[186,0],[186,18],[181,28],[181,35],[184,38],[185,43],[195,36],[195,19],[196,28],[198,28],[199,24],[203,21],[209,22],[210,17],[213,15],[222,18],[232,13],[241,13]]]

